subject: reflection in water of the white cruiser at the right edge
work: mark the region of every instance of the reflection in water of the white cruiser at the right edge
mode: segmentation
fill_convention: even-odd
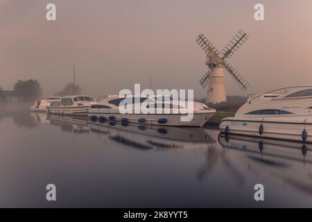
[[[222,133],[218,140],[223,148],[241,152],[236,157],[257,176],[273,176],[312,194],[311,144]]]

